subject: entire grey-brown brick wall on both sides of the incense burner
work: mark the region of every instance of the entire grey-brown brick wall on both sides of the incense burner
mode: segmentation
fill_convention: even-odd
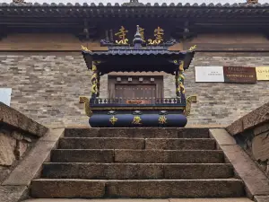
[[[256,84],[195,83],[195,66],[269,66],[269,55],[230,56],[197,53],[186,71],[186,91],[197,95],[187,126],[222,125],[246,115],[269,100],[269,82]],[[108,76],[100,96],[108,94]],[[90,95],[91,72],[78,52],[10,52],[0,55],[0,87],[13,88],[11,107],[48,126],[88,126],[79,103]],[[164,76],[165,96],[175,94],[174,77]]]

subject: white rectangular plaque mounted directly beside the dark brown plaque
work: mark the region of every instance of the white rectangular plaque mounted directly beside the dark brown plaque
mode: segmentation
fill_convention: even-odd
[[[195,82],[224,82],[223,66],[195,66]]]

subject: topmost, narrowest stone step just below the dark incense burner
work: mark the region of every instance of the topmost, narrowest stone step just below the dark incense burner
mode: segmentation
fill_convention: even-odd
[[[209,138],[208,128],[65,128],[68,137]]]

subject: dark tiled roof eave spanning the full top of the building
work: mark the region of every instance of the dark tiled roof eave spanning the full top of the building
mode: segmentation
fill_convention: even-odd
[[[269,17],[269,3],[265,4],[143,4],[139,2],[124,4],[39,4],[39,3],[0,3],[1,19],[10,18],[19,21],[23,16],[31,18],[42,17],[39,21],[48,18],[60,21],[67,18],[205,18],[205,19],[237,19],[239,21],[256,21],[257,23]],[[239,16],[239,18],[238,18]],[[267,26],[267,25],[263,25]]]

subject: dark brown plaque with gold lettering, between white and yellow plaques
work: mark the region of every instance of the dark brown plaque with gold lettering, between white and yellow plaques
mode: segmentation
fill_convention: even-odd
[[[256,68],[223,66],[225,83],[256,83]]]

